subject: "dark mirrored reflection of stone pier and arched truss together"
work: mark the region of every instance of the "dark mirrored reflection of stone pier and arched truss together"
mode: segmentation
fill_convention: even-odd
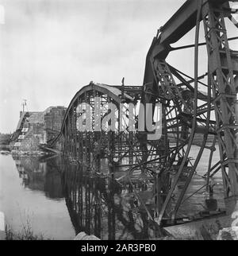
[[[22,185],[53,200],[65,198],[75,235],[81,231],[100,239],[152,239],[157,223],[140,207],[129,181],[92,174],[61,157],[13,156]],[[133,184],[148,193],[144,182]],[[146,194],[146,196],[148,196]],[[146,203],[146,201],[145,201]],[[153,205],[154,206],[154,205]],[[153,214],[153,208],[151,208]]]

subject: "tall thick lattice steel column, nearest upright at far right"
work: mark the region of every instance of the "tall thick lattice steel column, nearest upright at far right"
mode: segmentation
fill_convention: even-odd
[[[202,18],[209,60],[209,77],[213,88],[213,98],[215,98],[217,138],[225,198],[233,200],[236,204],[238,196],[236,88],[224,14],[219,8],[221,6],[215,2],[206,2],[202,8]]]

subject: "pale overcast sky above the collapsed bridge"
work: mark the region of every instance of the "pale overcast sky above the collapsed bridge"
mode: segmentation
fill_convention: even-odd
[[[90,81],[142,85],[152,38],[183,2],[0,0],[0,132],[16,129],[23,99],[28,111],[44,111],[67,107]],[[191,32],[181,44],[193,42]],[[180,51],[170,64],[191,72],[188,51],[187,61]]]

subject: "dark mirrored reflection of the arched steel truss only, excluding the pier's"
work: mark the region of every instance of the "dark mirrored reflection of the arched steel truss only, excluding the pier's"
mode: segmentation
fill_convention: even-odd
[[[159,236],[156,223],[148,220],[144,209],[137,208],[129,184],[122,188],[116,180],[90,175],[77,165],[66,165],[62,178],[76,234],[85,231],[100,239],[150,239]]]

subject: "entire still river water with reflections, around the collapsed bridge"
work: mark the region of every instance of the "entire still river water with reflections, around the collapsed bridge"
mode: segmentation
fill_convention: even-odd
[[[195,155],[198,150],[193,150]],[[201,176],[206,172],[208,157],[205,149],[186,196],[205,184]],[[217,150],[213,162],[218,159]],[[221,173],[213,181],[218,207],[224,208]],[[182,211],[201,211],[204,192],[202,189],[186,200]],[[62,157],[0,155],[0,211],[14,232],[29,225],[44,239],[74,239],[80,231],[100,239],[159,236],[146,211],[137,207],[129,185],[121,187],[117,180],[88,174]]]

